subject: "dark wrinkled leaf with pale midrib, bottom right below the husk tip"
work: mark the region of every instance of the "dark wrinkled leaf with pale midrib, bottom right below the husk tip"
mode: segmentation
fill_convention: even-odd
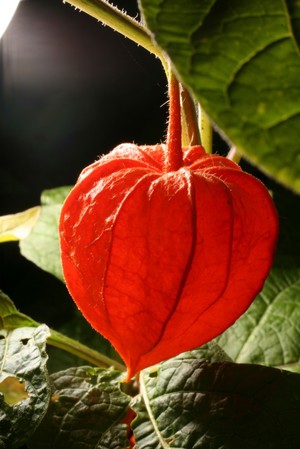
[[[182,354],[141,375],[137,448],[300,447],[300,376]]]

